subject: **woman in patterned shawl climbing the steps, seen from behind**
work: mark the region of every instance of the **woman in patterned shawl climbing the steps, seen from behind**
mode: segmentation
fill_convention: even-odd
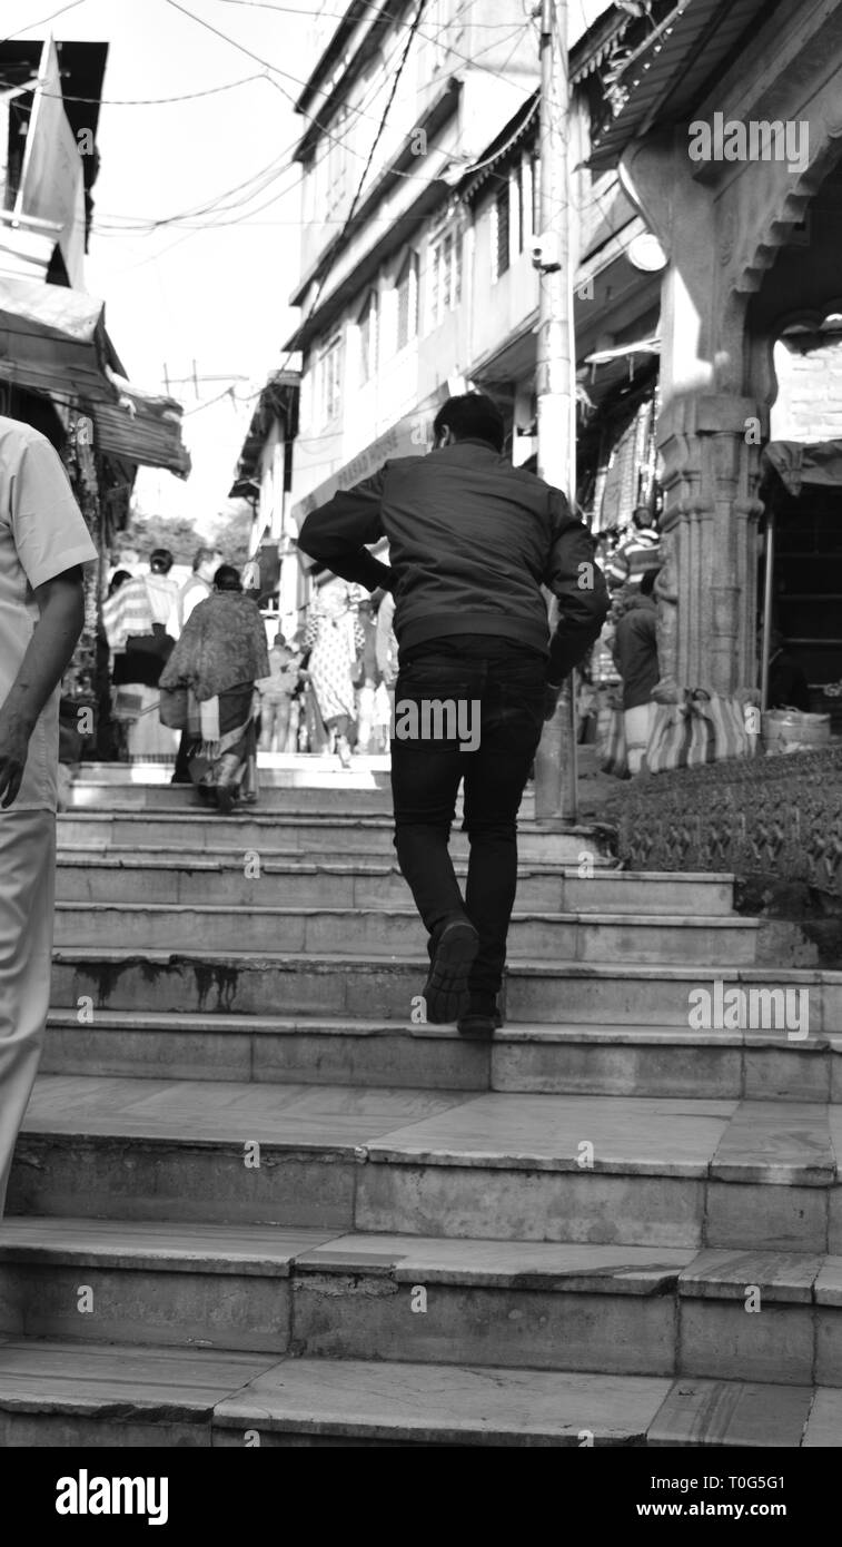
[[[213,593],[199,602],[161,676],[167,692],[187,688],[193,743],[190,777],[219,811],[256,800],[255,684],[269,676],[266,628],[239,574],[221,565]]]

